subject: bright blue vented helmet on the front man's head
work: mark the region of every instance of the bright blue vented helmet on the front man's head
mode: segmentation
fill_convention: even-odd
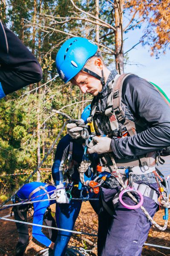
[[[84,67],[89,58],[100,56],[97,50],[98,46],[86,38],[74,37],[68,39],[61,46],[56,56],[56,67],[61,79],[66,83],[83,70],[95,76],[104,85],[103,70],[101,77]]]

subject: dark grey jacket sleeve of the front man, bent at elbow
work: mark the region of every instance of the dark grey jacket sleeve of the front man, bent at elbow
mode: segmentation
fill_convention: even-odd
[[[113,138],[115,157],[138,156],[170,146],[170,107],[150,83],[138,76],[127,77],[122,100],[149,128],[133,137]]]

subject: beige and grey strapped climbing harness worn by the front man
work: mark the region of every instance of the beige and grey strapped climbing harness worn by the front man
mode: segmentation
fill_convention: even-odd
[[[127,76],[133,75],[131,73],[124,74],[124,75],[116,75],[115,79],[110,81],[108,84],[108,98],[107,98],[107,104],[105,112],[101,113],[104,116],[108,116],[108,122],[110,124],[111,133],[108,136],[117,136],[117,137],[125,137],[125,136],[134,136],[136,134],[136,130],[138,132],[144,131],[144,124],[142,123],[142,120],[138,120],[138,122],[133,122],[130,119],[125,117],[124,110],[121,107],[121,94],[122,94],[122,85],[124,80],[127,78]],[[153,85],[152,85],[153,86]],[[159,92],[160,93],[160,92]],[[161,94],[161,96],[164,98],[164,96]],[[164,99],[164,101],[170,106],[170,103],[167,102],[167,99]],[[92,113],[91,116],[88,118],[88,122],[92,122],[93,125],[93,116],[96,114],[99,114],[96,112],[97,108],[97,102],[94,102],[92,105]],[[121,126],[119,126],[121,125]],[[93,125],[94,126],[94,125]],[[120,129],[121,128],[121,129]],[[92,138],[90,138],[92,139]],[[87,146],[90,147],[89,142],[86,143]],[[127,180],[128,177],[126,176],[126,169],[127,166],[131,167],[134,175],[143,175],[143,174],[149,174],[155,171],[155,164],[156,164],[156,152],[150,153],[147,156],[140,155],[138,159],[114,159],[112,157],[112,154],[103,154],[102,155],[102,163],[101,163],[101,172],[107,171],[110,172],[113,177],[118,180],[118,182],[121,184],[122,188],[120,192],[118,192],[115,197],[113,198],[113,204],[115,204],[115,201],[118,201],[118,197],[121,193],[121,196],[126,191],[127,194],[130,196],[133,201],[140,206],[142,204],[142,198],[143,195],[152,198],[154,201],[157,201],[158,196],[156,195],[156,191],[151,189],[149,186],[145,184],[137,184],[133,183],[133,190],[138,193],[138,195],[141,198],[140,203],[137,201],[137,199],[130,193],[132,186],[128,187],[127,190]],[[103,166],[102,166],[103,165]],[[119,168],[119,169],[118,169]],[[127,170],[129,172],[129,170]],[[94,185],[94,184],[93,184]],[[97,185],[97,184],[96,184]],[[94,185],[95,186],[95,185]],[[122,190],[125,190],[122,192]],[[129,190],[130,189],[130,190]],[[141,192],[142,191],[142,192]],[[120,196],[120,198],[121,198]],[[123,202],[123,201],[122,201]],[[124,202],[123,202],[124,204]],[[141,209],[147,216],[147,218],[160,230],[165,230],[167,227],[167,218],[168,218],[168,208],[170,208],[169,198],[168,198],[168,192],[166,197],[163,195],[161,198],[161,205],[165,207],[165,215],[164,215],[164,227],[159,226],[156,224],[155,221],[151,218],[151,216],[148,214],[146,209],[141,205]],[[127,205],[126,205],[127,206]],[[128,207],[128,206],[127,206]]]

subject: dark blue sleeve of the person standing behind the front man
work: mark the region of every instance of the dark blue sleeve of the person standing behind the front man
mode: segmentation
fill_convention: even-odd
[[[67,134],[58,143],[55,152],[55,161],[52,166],[52,178],[55,186],[63,186],[63,163],[68,157],[70,136]]]

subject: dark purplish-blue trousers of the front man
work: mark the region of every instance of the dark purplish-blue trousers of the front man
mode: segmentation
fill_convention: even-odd
[[[100,201],[98,256],[140,256],[151,223],[140,208],[135,210],[126,209],[119,202],[114,209],[112,198],[118,190],[119,188],[102,188],[103,199],[113,210],[113,215],[108,214]],[[125,194],[123,199],[126,204],[133,204],[128,195]],[[145,196],[143,206],[152,217],[158,208],[158,205],[152,199]]]

